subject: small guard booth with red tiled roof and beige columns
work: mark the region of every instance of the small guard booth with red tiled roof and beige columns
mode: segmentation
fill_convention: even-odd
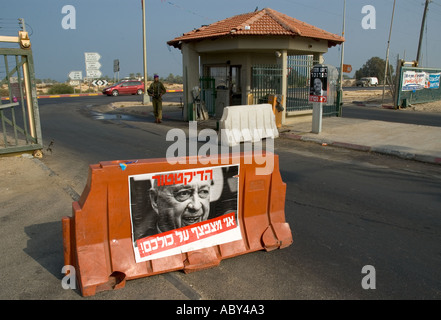
[[[214,89],[201,88],[208,113],[215,118],[228,106],[249,105],[250,95],[253,104],[268,103],[266,94],[283,96],[282,123],[288,116],[310,113],[309,70],[324,62],[329,48],[343,42],[339,35],[271,8],[183,33],[167,44],[182,52],[184,120],[189,120],[191,90],[200,85],[201,77],[214,79]]]

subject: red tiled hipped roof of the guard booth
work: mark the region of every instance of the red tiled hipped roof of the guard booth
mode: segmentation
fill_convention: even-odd
[[[328,47],[344,42],[344,38],[339,35],[291,18],[273,9],[265,8],[260,11],[227,18],[208,26],[202,26],[167,43],[178,48],[181,42],[240,35],[299,36],[324,39],[328,40]]]

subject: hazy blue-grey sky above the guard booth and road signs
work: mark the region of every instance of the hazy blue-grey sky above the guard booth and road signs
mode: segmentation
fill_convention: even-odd
[[[394,66],[397,55],[406,61],[416,59],[424,2],[396,0],[389,52]],[[74,12],[63,13],[67,5]],[[346,1],[344,63],[352,66],[349,76],[371,57],[386,59],[393,6],[394,0]],[[167,41],[256,7],[274,9],[335,34],[343,31],[344,0],[146,0],[147,73],[182,75],[181,51]],[[73,19],[68,20],[68,15]],[[368,20],[371,17],[375,25]],[[115,59],[120,78],[143,74],[141,0],[0,0],[0,35],[17,35],[18,18],[26,22],[39,79],[63,82],[71,71],[85,76],[85,52],[100,54],[103,76],[114,77]],[[424,67],[441,67],[439,30],[441,0],[433,0],[421,47]],[[340,57],[341,46],[332,47],[324,55],[325,63],[339,67]]]

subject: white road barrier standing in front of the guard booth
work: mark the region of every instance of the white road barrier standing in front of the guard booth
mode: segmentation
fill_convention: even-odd
[[[279,136],[273,108],[268,103],[225,107],[219,129],[222,144],[231,147]]]

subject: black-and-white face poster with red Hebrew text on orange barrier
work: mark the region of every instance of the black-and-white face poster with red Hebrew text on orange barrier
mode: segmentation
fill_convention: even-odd
[[[242,239],[239,165],[129,176],[136,262]]]

